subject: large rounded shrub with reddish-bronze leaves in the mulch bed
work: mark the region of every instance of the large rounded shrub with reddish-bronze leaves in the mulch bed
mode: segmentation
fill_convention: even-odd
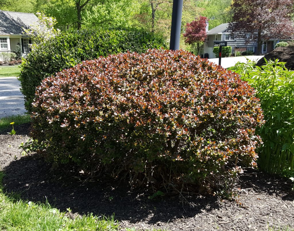
[[[83,61],[44,79],[32,105],[32,136],[49,161],[158,187],[216,188],[255,166],[263,123],[247,82],[183,50]]]

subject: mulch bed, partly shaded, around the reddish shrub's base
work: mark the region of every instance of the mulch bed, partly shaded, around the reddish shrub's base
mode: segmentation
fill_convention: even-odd
[[[45,201],[73,213],[112,215],[121,229],[146,230],[268,230],[294,228],[294,195],[287,179],[248,169],[240,177],[241,207],[213,196],[162,197],[111,179],[88,179],[62,169],[53,170],[42,157],[21,156],[18,146],[29,139],[29,124],[16,126],[17,135],[0,133],[0,165],[7,193],[19,192],[24,200]]]

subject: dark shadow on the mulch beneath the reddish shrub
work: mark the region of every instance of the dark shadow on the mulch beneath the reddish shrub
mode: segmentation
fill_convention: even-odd
[[[219,200],[213,196],[195,196],[187,201],[178,196],[148,199],[148,193],[132,189],[128,183],[105,179],[94,182],[74,176],[73,172],[52,170],[51,165],[36,154],[12,161],[4,169],[4,190],[6,193],[20,193],[21,199],[46,202],[73,213],[111,216],[118,221],[136,223],[148,220],[150,224],[168,222],[177,218],[193,217],[203,210],[219,207]],[[202,210],[202,211],[201,211]]]

